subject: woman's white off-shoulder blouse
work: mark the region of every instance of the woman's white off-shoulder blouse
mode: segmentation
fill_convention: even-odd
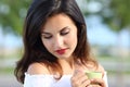
[[[60,80],[56,80],[53,75],[29,75],[25,73],[24,87],[72,87],[72,75],[63,75]],[[107,84],[107,75],[104,74],[103,79]]]

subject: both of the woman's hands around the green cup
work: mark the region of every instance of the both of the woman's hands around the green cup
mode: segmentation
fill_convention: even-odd
[[[75,73],[72,77],[73,87],[106,87],[102,78],[88,79],[83,70],[88,70],[88,67],[78,66],[75,70]],[[96,71],[104,74],[104,69],[101,65],[99,65]]]

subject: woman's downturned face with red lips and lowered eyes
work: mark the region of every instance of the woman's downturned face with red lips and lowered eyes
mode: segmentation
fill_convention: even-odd
[[[50,53],[68,59],[77,46],[77,27],[65,14],[51,16],[42,27],[41,39]]]

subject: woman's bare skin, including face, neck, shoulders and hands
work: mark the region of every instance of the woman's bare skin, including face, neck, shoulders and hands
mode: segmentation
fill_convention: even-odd
[[[70,78],[73,87],[105,87],[102,78],[88,79],[84,74],[84,70],[93,71],[95,67],[91,66],[91,64],[84,66],[81,63],[74,62],[72,54],[77,46],[77,27],[70,17],[65,14],[49,17],[42,27],[41,40],[47,50],[58,59],[63,67],[63,74],[73,74]],[[61,53],[57,51],[61,49],[65,50]],[[104,74],[104,69],[101,65],[99,65],[96,71]],[[31,75],[52,74],[42,63],[32,63],[27,72]],[[91,85],[95,83],[100,85]]]

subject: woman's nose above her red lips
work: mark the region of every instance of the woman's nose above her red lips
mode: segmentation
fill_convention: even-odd
[[[53,40],[53,46],[54,46],[55,49],[62,48],[63,44],[64,44],[64,39],[61,36],[56,36]]]

